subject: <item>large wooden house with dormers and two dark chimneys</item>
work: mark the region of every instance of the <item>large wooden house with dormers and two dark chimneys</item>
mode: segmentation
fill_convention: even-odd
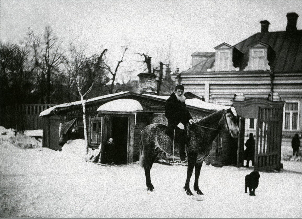
[[[297,30],[298,14],[286,17],[285,31],[269,32],[270,23],[263,20],[261,32],[236,45],[223,42],[215,52],[194,52],[192,67],[180,74],[180,83],[210,103],[259,98],[284,102],[283,139],[301,136],[302,30]],[[256,134],[257,119],[246,117],[246,135]]]

